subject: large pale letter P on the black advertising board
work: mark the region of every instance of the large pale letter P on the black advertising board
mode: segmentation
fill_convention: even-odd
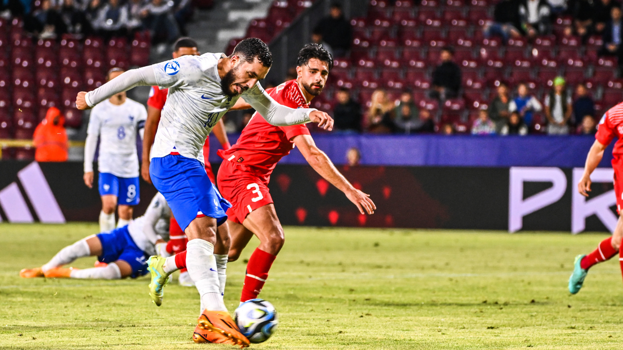
[[[523,199],[523,182],[551,182],[552,186]],[[567,178],[559,168],[510,168],[508,193],[508,232],[523,227],[523,217],[558,202],[567,190]]]

